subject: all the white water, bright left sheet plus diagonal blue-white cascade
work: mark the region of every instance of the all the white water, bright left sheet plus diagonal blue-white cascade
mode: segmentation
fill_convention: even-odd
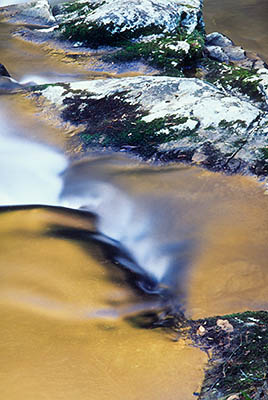
[[[175,253],[165,250],[164,237],[162,244],[154,237],[159,231],[155,212],[109,183],[94,163],[87,165],[87,170],[94,170],[92,176],[63,182],[67,165],[59,152],[17,137],[12,123],[0,114],[0,206],[40,204],[87,209],[98,216],[99,231],[129,252],[131,259],[119,252],[118,262],[163,283],[179,246]]]

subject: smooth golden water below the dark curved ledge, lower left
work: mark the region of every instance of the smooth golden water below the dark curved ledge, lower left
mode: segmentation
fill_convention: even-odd
[[[94,230],[92,220],[51,209],[1,213],[0,220],[1,397],[194,398],[206,355],[127,322],[121,304],[126,310],[143,297],[90,235],[85,245],[55,234]]]

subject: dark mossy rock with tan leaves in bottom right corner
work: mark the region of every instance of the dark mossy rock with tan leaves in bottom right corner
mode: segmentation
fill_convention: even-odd
[[[268,398],[268,312],[191,321],[190,335],[211,354],[200,400]]]

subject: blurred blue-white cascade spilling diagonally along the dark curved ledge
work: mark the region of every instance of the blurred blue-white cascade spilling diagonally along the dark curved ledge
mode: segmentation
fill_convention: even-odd
[[[88,167],[90,169],[90,162]],[[118,262],[127,263],[136,272],[141,271],[140,267],[157,282],[163,281],[172,253],[166,254],[155,240],[154,213],[142,201],[133,201],[118,187],[105,181],[105,176],[100,176],[99,181],[89,177],[80,183],[77,176],[74,181],[67,182],[61,198],[66,207],[86,209],[96,214],[100,232],[123,245],[130,252],[134,264],[117,257]]]

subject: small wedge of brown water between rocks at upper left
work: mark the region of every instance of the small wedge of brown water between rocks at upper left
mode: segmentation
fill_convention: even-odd
[[[74,63],[73,58],[66,56],[60,48],[53,49],[49,45],[27,42],[11,35],[22,26],[0,19],[1,63],[17,81],[42,84],[109,76],[105,72],[88,71],[87,59]],[[91,64],[94,64],[94,57],[91,57]]]

